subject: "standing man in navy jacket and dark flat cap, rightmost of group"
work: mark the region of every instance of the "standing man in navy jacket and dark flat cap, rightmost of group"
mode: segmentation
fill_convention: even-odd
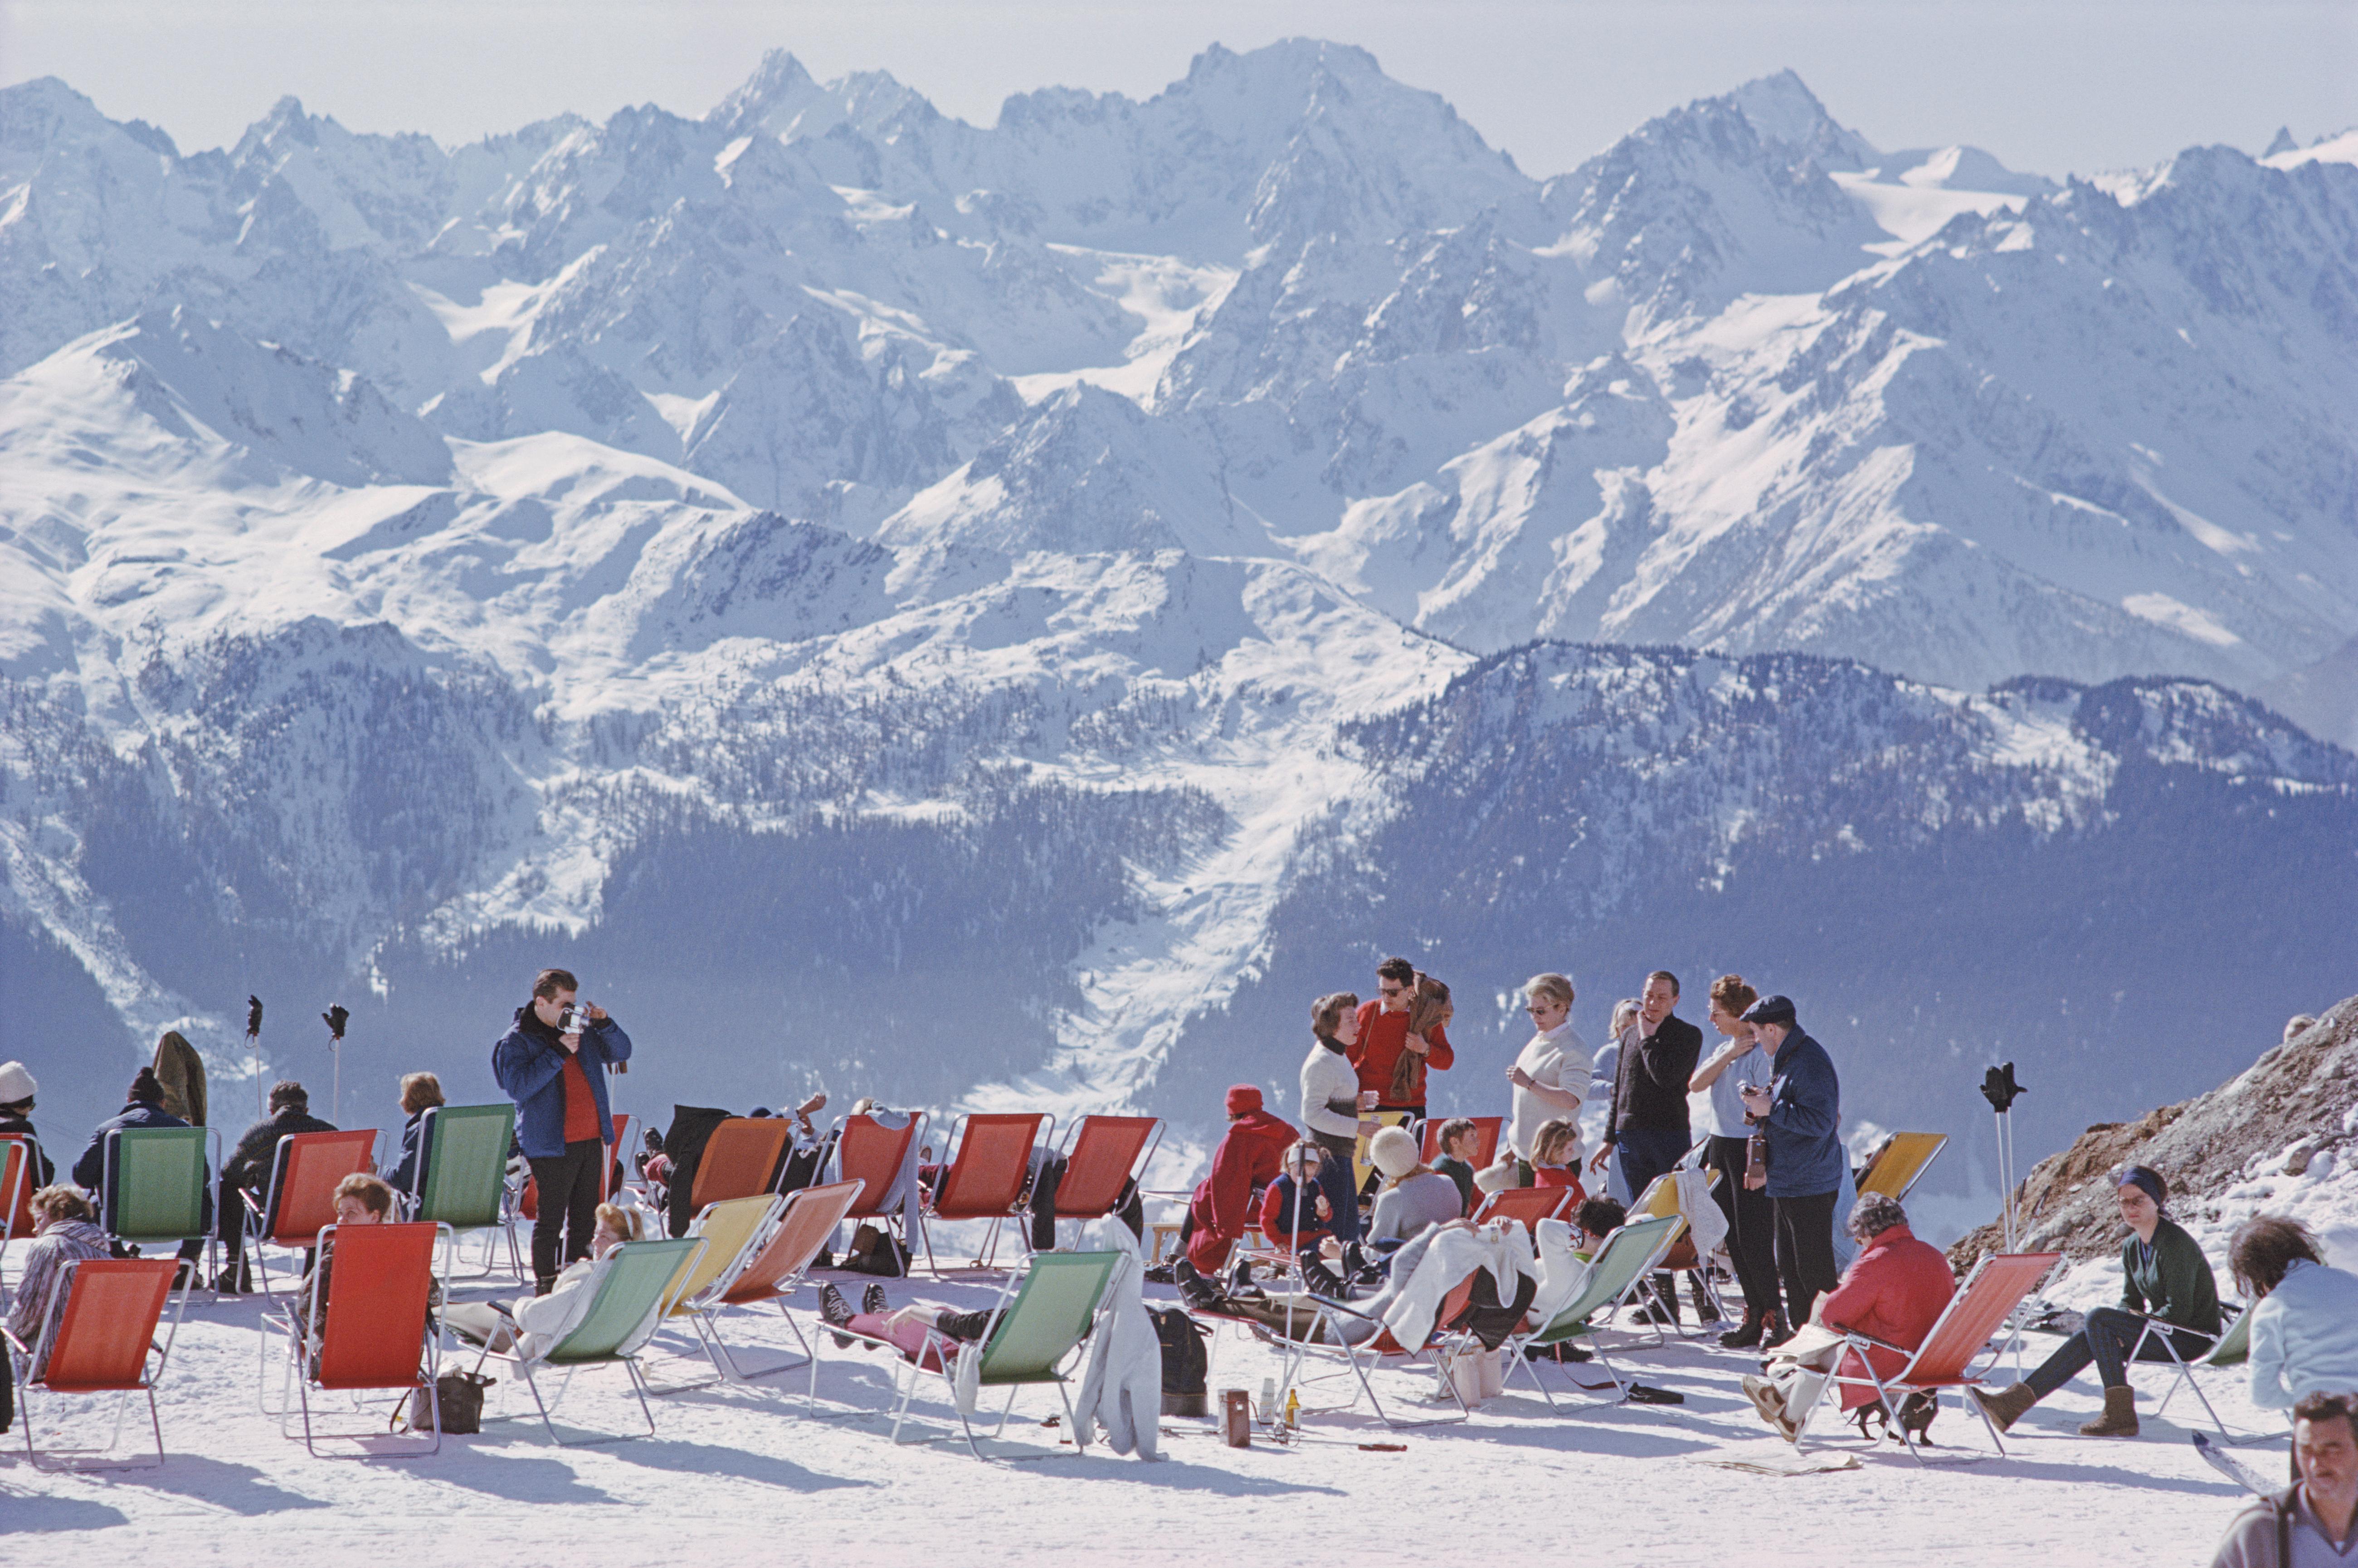
[[[1842,1283],[1835,1259],[1835,1198],[1842,1191],[1842,1078],[1825,1047],[1802,1033],[1790,997],[1761,997],[1745,1023],[1768,1047],[1771,1082],[1745,1094],[1768,1141],[1768,1205],[1776,1210],[1776,1271],[1785,1285],[1785,1332],[1809,1323],[1820,1290]]]

